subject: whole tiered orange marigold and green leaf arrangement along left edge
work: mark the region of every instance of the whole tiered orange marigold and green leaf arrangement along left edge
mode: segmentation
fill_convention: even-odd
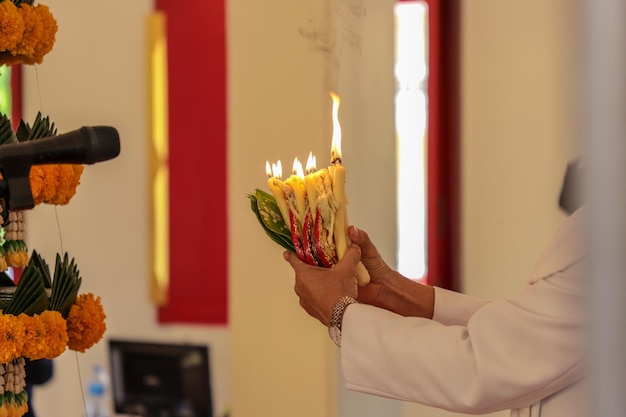
[[[34,2],[0,0],[0,65],[41,64],[52,50],[57,22],[48,6]],[[0,146],[56,134],[41,113],[32,127],[22,120],[15,132],[0,113]],[[68,204],[82,172],[83,165],[32,166],[32,203]],[[28,256],[23,210],[3,212],[7,206],[0,203],[0,286],[14,287],[8,289],[10,301],[0,305],[0,417],[21,417],[28,411],[26,361],[56,358],[68,349],[85,352],[102,339],[106,314],[100,297],[78,294],[82,278],[67,253],[57,254],[53,276],[36,251]],[[10,266],[24,268],[17,286],[2,274]]]

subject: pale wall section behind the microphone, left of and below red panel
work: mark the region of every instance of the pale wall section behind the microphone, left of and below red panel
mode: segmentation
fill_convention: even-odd
[[[46,0],[59,23],[54,50],[26,67],[24,116],[49,114],[60,132],[84,125],[118,129],[118,158],[87,166],[71,204],[28,213],[27,241],[53,262],[67,251],[77,260],[84,291],[101,295],[105,338],[211,345],[217,411],[230,398],[229,335],[225,328],[158,326],[148,299],[145,20],[150,0]],[[52,383],[35,392],[40,417],[84,415],[80,379],[93,364],[108,366],[106,340],[85,354],[55,360]]]

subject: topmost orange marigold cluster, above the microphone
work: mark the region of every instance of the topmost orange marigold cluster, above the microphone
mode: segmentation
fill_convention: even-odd
[[[0,2],[0,65],[41,64],[58,29],[48,6],[34,0]]]

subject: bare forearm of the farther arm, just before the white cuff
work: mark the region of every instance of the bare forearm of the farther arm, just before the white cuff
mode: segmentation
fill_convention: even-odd
[[[435,291],[429,285],[410,280],[396,273],[381,289],[377,306],[402,316],[432,318]]]

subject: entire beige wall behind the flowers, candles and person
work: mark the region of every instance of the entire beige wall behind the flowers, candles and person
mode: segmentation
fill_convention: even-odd
[[[328,91],[337,90],[350,219],[393,262],[392,1],[228,3],[229,328],[159,327],[148,301],[143,33],[151,2],[46,4],[60,31],[44,64],[26,68],[25,116],[42,110],[60,131],[115,126],[122,154],[87,167],[71,205],[29,213],[28,240],[44,255],[62,247],[76,257],[84,289],[103,297],[107,336],[209,343],[217,411],[232,406],[236,417],[451,415],[343,389],[326,330],[299,308],[291,270],[246,199],[264,187],[267,159],[288,167],[312,150],[327,162]],[[522,285],[563,218],[556,195],[577,151],[568,10],[567,0],[464,3],[462,271],[477,296]],[[59,358],[54,382],[36,392],[40,416],[80,415],[79,372],[86,378],[92,364],[106,364],[106,353],[101,343]]]

